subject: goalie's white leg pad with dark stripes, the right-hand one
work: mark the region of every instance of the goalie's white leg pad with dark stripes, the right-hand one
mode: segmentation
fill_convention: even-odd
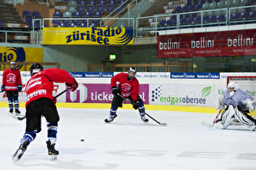
[[[249,116],[246,112],[240,111],[237,107],[234,109],[234,116],[241,124],[246,125],[249,129],[256,125],[256,120]]]

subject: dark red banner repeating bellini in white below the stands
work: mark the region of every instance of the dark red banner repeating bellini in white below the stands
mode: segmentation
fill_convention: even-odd
[[[158,58],[256,55],[256,29],[158,36]]]

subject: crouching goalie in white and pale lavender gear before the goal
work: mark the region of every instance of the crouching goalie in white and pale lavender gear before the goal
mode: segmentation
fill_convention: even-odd
[[[248,115],[249,110],[252,112],[255,110],[255,106],[256,102],[251,95],[240,90],[236,82],[229,82],[222,99],[218,100],[217,110],[224,109],[224,111],[221,118],[216,120],[215,126],[219,129],[226,129],[236,118],[251,131],[256,131],[256,120]]]

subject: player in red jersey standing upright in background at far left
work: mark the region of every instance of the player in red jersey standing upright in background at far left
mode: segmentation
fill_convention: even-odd
[[[6,91],[9,112],[13,112],[13,102],[16,113],[19,111],[19,92],[22,91],[22,77],[20,70],[16,69],[16,62],[9,62],[9,69],[3,71],[3,85],[1,91]]]

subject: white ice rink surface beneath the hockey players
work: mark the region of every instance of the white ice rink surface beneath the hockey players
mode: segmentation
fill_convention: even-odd
[[[48,158],[42,118],[41,133],[22,159],[13,163],[25,120],[9,117],[8,110],[0,108],[3,170],[256,170],[256,132],[245,126],[218,130],[201,125],[210,123],[215,114],[164,111],[146,112],[167,126],[150,118],[145,124],[138,111],[122,109],[106,124],[108,109],[59,108],[58,160]]]

